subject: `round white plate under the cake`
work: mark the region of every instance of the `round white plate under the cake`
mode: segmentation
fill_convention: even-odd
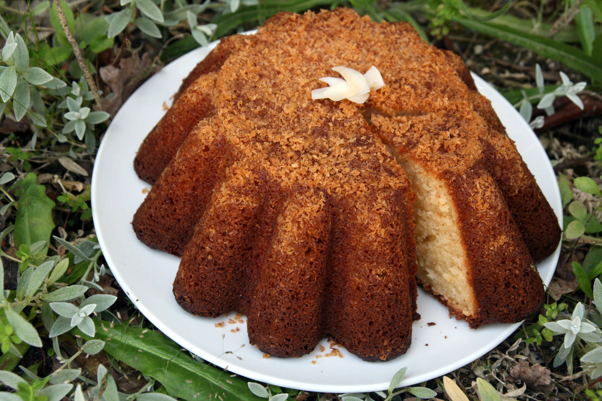
[[[326,339],[321,342],[326,348],[324,352],[318,346],[302,358],[263,358],[262,352],[249,346],[246,323],[228,323],[234,314],[211,319],[182,310],[172,294],[179,259],[147,248],[132,230],[132,216],[149,189],[134,173],[132,161],[182,79],[215,46],[216,42],[178,58],[138,88],[113,119],[96,158],[92,176],[96,233],[111,272],[144,316],[181,346],[206,361],[228,366],[230,372],[283,387],[330,393],[384,390],[394,373],[404,366],[408,372],[403,385],[427,381],[471,363],[514,332],[520,323],[469,329],[467,323],[450,318],[447,308],[419,289],[418,313],[422,319],[414,322],[408,353],[393,361],[364,362],[345,349],[340,349],[342,358],[326,357],[324,354],[331,351]],[[556,215],[562,218],[556,178],[538,138],[503,96],[478,76],[473,78],[517,142],[519,152]],[[560,249],[556,249],[538,265],[546,284],[554,274],[559,253]],[[217,322],[225,325],[216,328]],[[436,325],[429,326],[428,322]],[[240,331],[231,332],[236,328]],[[222,334],[225,334],[223,339]],[[246,346],[241,348],[241,344]],[[234,354],[223,354],[226,351]]]

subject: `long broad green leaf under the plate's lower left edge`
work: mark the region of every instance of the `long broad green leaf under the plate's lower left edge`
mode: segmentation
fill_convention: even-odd
[[[157,332],[126,328],[119,323],[105,322],[102,326],[99,320],[95,323],[96,338],[106,342],[107,354],[155,378],[172,397],[206,400],[214,388],[220,388],[224,401],[261,400],[251,393],[246,380],[228,377],[222,369],[194,361],[178,344]]]

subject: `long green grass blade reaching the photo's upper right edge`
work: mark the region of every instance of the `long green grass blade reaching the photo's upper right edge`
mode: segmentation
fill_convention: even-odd
[[[602,82],[602,66],[573,46],[541,36],[527,34],[497,25],[493,22],[480,22],[466,18],[456,19],[458,23],[473,31],[507,40],[518,46],[527,47],[543,57],[550,57],[564,63],[569,68],[578,70],[595,81]]]

